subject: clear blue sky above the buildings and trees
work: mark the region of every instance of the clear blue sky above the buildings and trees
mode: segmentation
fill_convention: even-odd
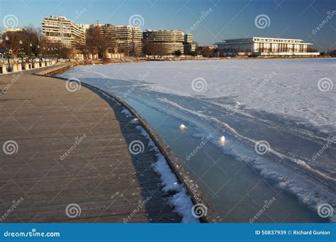
[[[210,11],[191,33],[201,45],[224,38],[248,36],[299,38],[319,50],[336,49],[335,0],[0,0],[1,27],[13,14],[18,27],[40,26],[44,16],[66,16],[77,23],[127,25],[131,16],[143,18],[142,30],[180,29],[186,32]],[[81,14],[82,11],[82,14]],[[269,18],[257,28],[260,14]],[[330,16],[320,30],[313,30]]]

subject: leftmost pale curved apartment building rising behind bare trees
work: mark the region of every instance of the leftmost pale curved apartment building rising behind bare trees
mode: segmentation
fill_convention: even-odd
[[[84,26],[72,22],[65,16],[43,18],[42,30],[47,40],[62,44],[67,48],[74,48],[77,43],[85,43]]]

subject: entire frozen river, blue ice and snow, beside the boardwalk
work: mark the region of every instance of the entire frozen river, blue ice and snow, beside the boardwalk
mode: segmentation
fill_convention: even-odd
[[[335,59],[142,62],[61,76],[137,109],[223,221],[304,222],[327,221],[320,204],[336,209],[335,67]]]

